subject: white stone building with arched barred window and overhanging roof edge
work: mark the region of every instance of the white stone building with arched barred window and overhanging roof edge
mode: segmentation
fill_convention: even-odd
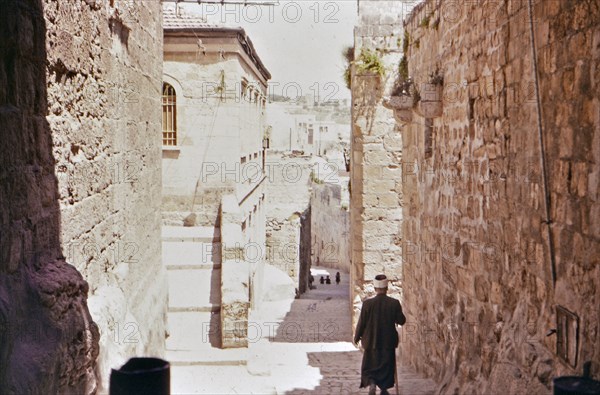
[[[223,347],[246,345],[248,310],[260,302],[270,77],[242,28],[165,8],[163,224],[170,235],[214,229],[201,261],[213,266],[188,277],[216,278],[203,279],[212,302],[201,307],[220,312]]]

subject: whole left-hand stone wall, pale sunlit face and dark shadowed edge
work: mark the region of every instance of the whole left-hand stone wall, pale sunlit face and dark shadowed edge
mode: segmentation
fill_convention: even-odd
[[[9,324],[48,331],[3,334],[0,392],[90,392],[98,341],[100,383],[164,350],[160,4],[0,6],[0,299]]]

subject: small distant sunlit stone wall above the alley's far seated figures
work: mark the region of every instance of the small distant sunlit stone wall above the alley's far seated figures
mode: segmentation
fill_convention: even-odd
[[[342,208],[342,187],[312,184],[311,244],[316,266],[350,271],[350,214]]]

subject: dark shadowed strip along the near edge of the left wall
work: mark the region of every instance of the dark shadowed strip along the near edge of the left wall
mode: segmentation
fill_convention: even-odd
[[[88,285],[65,262],[41,0],[0,0],[0,393],[95,390]],[[69,78],[69,76],[66,76]],[[64,80],[63,80],[64,81]]]

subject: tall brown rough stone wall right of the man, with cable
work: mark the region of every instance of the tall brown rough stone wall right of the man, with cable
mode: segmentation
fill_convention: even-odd
[[[416,86],[439,67],[444,87],[433,128],[402,129],[402,354],[448,393],[547,393],[588,360],[598,378],[600,4],[533,1],[540,105],[527,1],[452,5],[406,25]],[[546,336],[559,305],[579,317],[574,368]]]

